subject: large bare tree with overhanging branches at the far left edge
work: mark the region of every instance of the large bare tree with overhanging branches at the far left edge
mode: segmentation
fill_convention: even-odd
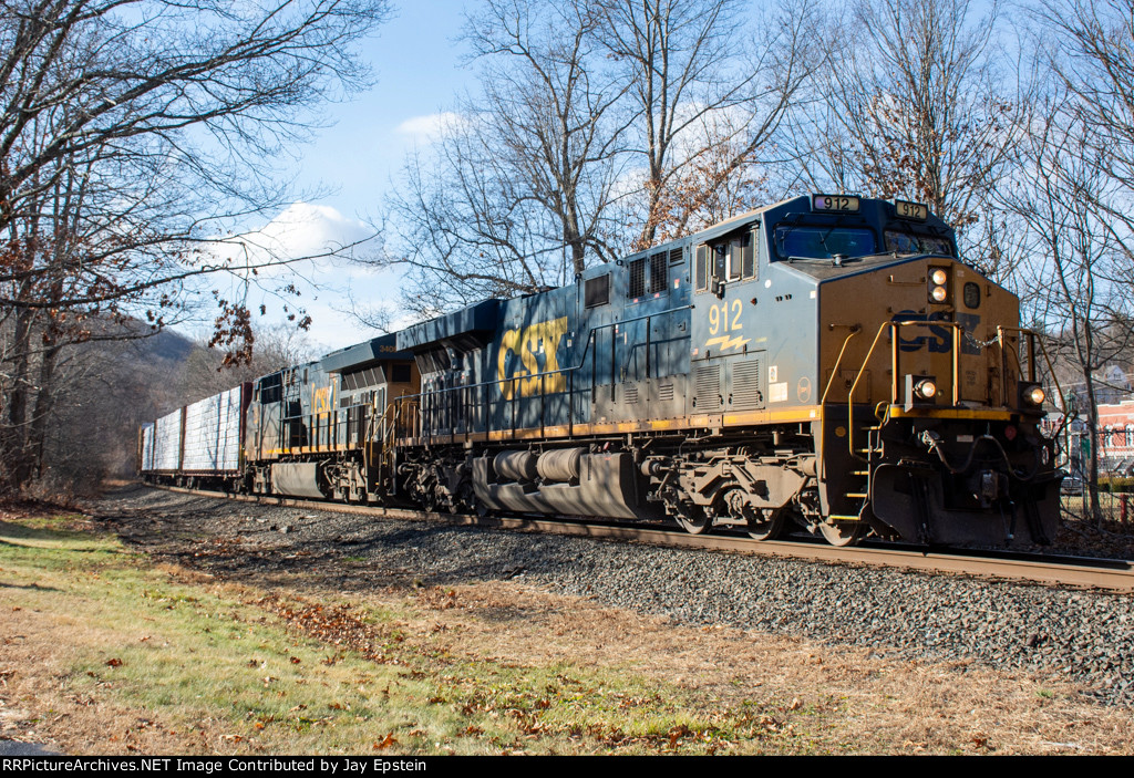
[[[268,160],[308,134],[318,104],[366,83],[352,43],[386,12],[386,0],[0,6],[0,490],[42,461],[68,349],[160,330],[192,279],[248,283],[287,260],[218,247],[286,202]],[[251,311],[215,301],[215,340],[247,357]]]

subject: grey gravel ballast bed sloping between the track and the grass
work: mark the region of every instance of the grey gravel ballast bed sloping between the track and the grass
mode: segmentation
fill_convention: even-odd
[[[95,516],[159,556],[223,578],[358,591],[518,579],[688,625],[728,625],[888,657],[1027,670],[1134,704],[1134,598],[395,521],[128,488]]]

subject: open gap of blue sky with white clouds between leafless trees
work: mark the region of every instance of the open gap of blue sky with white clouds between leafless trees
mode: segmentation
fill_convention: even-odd
[[[465,0],[396,3],[396,16],[361,50],[374,70],[374,86],[348,103],[328,105],[323,118],[331,126],[296,149],[297,190],[330,194],[305,196],[271,222],[252,225],[262,230],[255,242],[304,256],[370,231],[365,222],[379,213],[406,153],[415,144],[429,143],[431,119],[473,83],[474,71],[462,59],[464,46],[456,41],[467,5]],[[284,277],[281,272],[266,275]],[[299,305],[314,318],[310,341],[325,350],[375,334],[344,313],[349,298],[363,305],[397,299],[399,279],[392,271],[374,273],[320,262],[298,266],[296,275],[303,292]],[[269,315],[260,322],[282,319],[278,300],[254,291],[248,302],[253,308],[261,302],[268,306]]]

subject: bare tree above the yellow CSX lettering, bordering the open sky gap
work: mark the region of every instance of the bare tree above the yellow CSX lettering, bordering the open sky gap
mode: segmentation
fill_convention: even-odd
[[[589,3],[490,0],[468,20],[466,96],[393,202],[421,313],[558,285],[612,256],[625,91],[598,67]]]

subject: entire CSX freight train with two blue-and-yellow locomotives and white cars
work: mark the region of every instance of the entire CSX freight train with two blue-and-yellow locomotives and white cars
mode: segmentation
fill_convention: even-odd
[[[921,204],[797,197],[175,411],[154,482],[672,520],[836,545],[1046,544],[1038,339]]]

